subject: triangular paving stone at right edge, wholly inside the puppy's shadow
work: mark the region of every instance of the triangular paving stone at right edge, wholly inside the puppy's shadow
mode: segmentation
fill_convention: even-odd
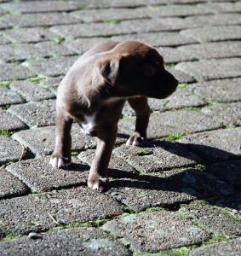
[[[231,160],[221,163],[215,163],[207,166],[205,171],[212,173],[215,177],[220,178],[226,183],[233,186],[235,189],[241,187],[240,171],[241,160]],[[240,209],[241,210],[241,209]]]

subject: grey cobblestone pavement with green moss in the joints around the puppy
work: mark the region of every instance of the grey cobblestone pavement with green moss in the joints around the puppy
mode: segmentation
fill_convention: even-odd
[[[241,255],[241,2],[0,2],[0,255]],[[124,39],[155,46],[180,85],[150,99],[142,148],[124,145],[123,109],[100,194],[76,125],[74,164],[49,166],[56,88],[86,49]]]

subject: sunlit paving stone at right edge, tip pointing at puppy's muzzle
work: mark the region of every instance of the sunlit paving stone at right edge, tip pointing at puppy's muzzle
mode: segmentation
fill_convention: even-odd
[[[239,77],[241,59],[201,60],[178,63],[175,68],[201,80]]]

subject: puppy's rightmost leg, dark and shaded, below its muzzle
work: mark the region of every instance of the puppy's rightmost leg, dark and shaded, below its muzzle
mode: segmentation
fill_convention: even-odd
[[[150,107],[146,96],[136,96],[128,100],[131,108],[135,110],[135,132],[129,137],[127,145],[139,146],[146,139],[146,130],[149,123]]]

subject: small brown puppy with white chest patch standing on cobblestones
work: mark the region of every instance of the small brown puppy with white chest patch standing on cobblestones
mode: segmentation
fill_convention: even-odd
[[[88,186],[105,190],[125,100],[136,113],[135,132],[127,144],[138,145],[146,139],[150,116],[146,96],[165,98],[175,91],[177,84],[175,77],[165,70],[163,57],[149,45],[136,41],[106,42],[89,49],[60,83],[55,152],[50,164],[66,168],[71,163],[71,128],[76,121],[98,141]]]

